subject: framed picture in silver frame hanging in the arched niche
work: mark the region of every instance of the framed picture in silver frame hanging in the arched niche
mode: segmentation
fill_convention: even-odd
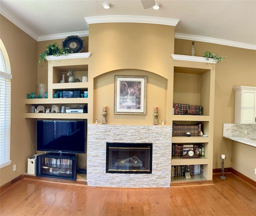
[[[146,76],[115,76],[114,114],[146,115]]]

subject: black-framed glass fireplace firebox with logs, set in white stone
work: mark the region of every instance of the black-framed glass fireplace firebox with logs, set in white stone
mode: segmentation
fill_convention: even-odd
[[[106,143],[107,173],[152,173],[152,143]]]

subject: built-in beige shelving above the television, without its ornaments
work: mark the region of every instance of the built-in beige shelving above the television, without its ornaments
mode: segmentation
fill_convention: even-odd
[[[47,56],[48,60],[48,98],[25,99],[26,113],[25,118],[59,118],[59,119],[88,119],[92,116],[93,90],[90,89],[89,82],[68,82],[68,71],[74,72],[75,78],[82,81],[82,76],[86,76],[88,80],[88,53],[72,53],[66,56]],[[65,77],[65,83],[60,83],[62,76]],[[88,91],[88,98],[54,98],[56,91]],[[44,106],[51,108],[53,105],[72,107],[87,105],[88,113],[31,113],[31,106]],[[90,114],[91,113],[91,114]]]

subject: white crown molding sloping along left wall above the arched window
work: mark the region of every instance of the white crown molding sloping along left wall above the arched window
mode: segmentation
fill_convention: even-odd
[[[23,32],[28,34],[30,37],[38,41],[38,35],[33,32],[28,26],[26,26],[23,22],[20,22],[15,16],[13,16],[8,10],[6,10],[3,6],[0,7],[0,14],[2,14],[6,19],[10,20],[14,25],[20,28]]]

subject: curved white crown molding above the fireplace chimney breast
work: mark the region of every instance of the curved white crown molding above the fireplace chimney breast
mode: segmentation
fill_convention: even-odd
[[[150,24],[160,24],[167,26],[176,26],[180,20],[154,17],[154,16],[89,16],[84,17],[87,24],[96,23],[109,23],[109,22],[133,22],[133,23],[150,23]]]

